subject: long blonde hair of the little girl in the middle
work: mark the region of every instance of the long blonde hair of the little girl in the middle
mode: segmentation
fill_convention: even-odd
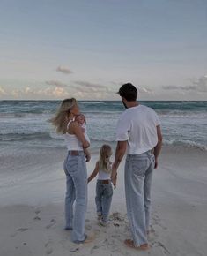
[[[109,158],[111,155],[112,155],[112,149],[109,145],[104,144],[102,147],[100,147],[99,167],[101,170],[107,173],[110,173],[112,170],[109,162]]]

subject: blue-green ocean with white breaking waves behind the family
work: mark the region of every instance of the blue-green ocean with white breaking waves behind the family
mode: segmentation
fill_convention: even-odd
[[[55,133],[48,119],[60,101],[0,101],[0,154],[20,150],[64,148],[63,137]],[[164,146],[198,147],[207,150],[207,102],[140,102],[154,109],[161,121]],[[115,147],[115,126],[122,102],[79,101],[85,114],[91,150],[103,143]]]

